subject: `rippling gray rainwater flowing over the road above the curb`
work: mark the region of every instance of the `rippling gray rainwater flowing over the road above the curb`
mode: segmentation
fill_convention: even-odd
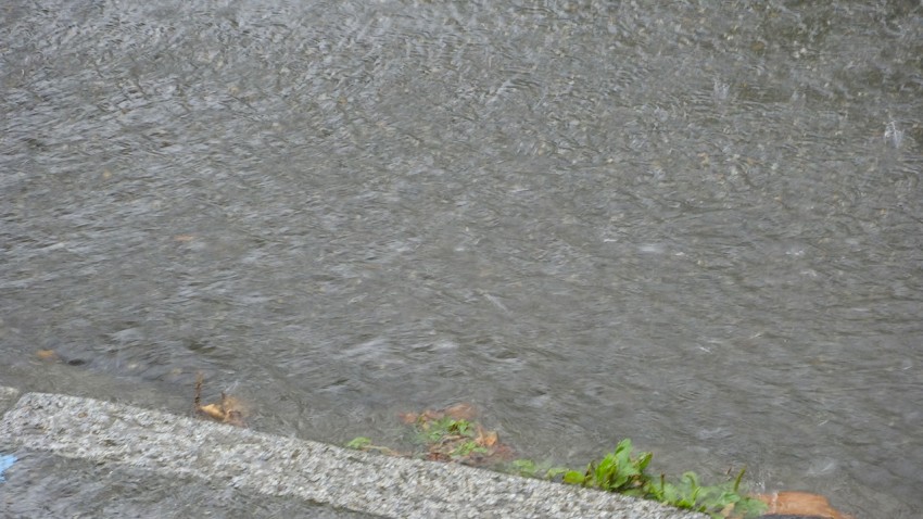
[[[916,517],[923,5],[661,3],[5,2],[0,383]]]

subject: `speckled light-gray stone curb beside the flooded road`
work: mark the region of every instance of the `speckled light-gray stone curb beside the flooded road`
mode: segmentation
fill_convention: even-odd
[[[223,481],[261,494],[394,518],[706,516],[618,494],[453,464],[274,436],[91,398],[0,387],[0,445]]]

